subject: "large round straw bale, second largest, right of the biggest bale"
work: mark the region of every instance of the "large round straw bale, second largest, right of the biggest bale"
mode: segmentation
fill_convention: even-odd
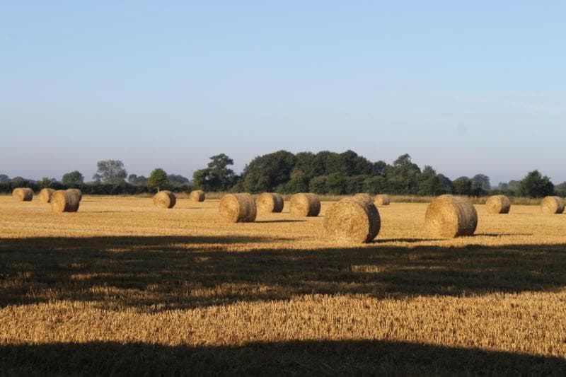
[[[478,212],[468,199],[441,195],[427,207],[424,223],[436,237],[472,236],[478,226]]]

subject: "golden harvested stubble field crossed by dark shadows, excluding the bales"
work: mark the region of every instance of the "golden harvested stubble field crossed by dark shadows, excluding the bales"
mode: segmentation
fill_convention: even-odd
[[[317,218],[226,224],[218,201],[0,197],[5,373],[556,373],[566,368],[566,215],[477,205],[431,238],[426,204],[380,207],[375,243]]]

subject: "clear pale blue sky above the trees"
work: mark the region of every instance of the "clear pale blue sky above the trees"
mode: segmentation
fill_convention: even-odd
[[[3,1],[0,173],[410,153],[566,180],[565,1]]]

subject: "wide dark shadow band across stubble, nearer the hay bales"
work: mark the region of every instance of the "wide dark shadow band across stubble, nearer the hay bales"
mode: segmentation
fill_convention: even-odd
[[[72,300],[162,311],[304,294],[462,296],[566,286],[562,244],[272,250],[270,242],[232,236],[2,240],[0,307]],[[249,243],[265,248],[226,251]]]

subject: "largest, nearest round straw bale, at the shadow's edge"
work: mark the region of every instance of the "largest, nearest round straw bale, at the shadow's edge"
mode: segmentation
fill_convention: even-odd
[[[330,238],[351,243],[367,243],[381,228],[379,211],[373,202],[346,198],[324,214],[324,228]]]

